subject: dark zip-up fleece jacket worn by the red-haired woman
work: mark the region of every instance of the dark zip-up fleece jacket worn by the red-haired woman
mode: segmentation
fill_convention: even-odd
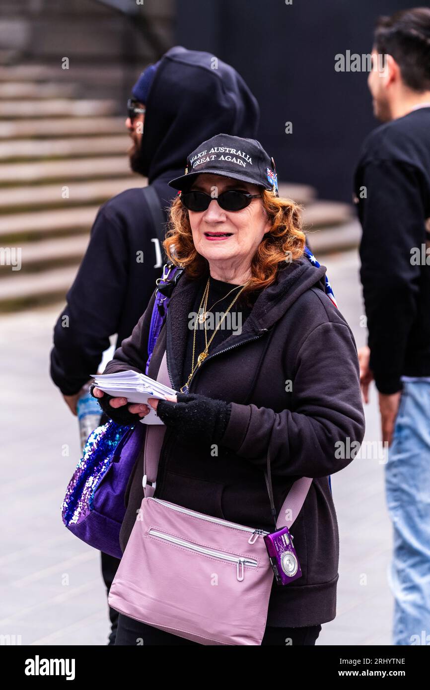
[[[231,406],[216,443],[166,425],[155,497],[254,528],[273,529],[264,479],[268,446],[275,506],[298,477],[312,477],[293,522],[303,575],[273,585],[268,625],[300,627],[335,618],[339,533],[328,475],[346,467],[364,435],[358,358],[351,330],[324,293],[325,268],[307,259],[280,266],[240,335],[219,344],[193,377],[190,393]],[[156,378],[164,351],[171,386],[182,386],[188,315],[206,283],[186,274],[173,290],[148,374]],[[106,373],[144,371],[154,297]],[[354,447],[352,445],[352,447]],[[343,453],[342,453],[343,448]],[[124,550],[141,505],[143,462],[126,490]]]

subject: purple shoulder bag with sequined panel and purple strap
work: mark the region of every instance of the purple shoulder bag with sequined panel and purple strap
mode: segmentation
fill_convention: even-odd
[[[171,290],[182,271],[169,264],[157,281],[151,316],[148,363],[167,314]],[[160,290],[164,290],[162,293]],[[140,449],[146,426],[124,426],[108,420],[88,437],[63,500],[63,523],[79,539],[99,551],[121,558],[119,531],[126,513],[124,495]]]

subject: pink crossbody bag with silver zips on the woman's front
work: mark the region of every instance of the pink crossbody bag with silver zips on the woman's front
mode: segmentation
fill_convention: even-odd
[[[166,354],[157,377],[170,386]],[[148,426],[144,499],[110,587],[113,609],[205,645],[261,644],[273,569],[262,530],[153,497],[165,426]],[[270,460],[266,475],[271,504]],[[291,487],[276,526],[293,524],[312,480]]]

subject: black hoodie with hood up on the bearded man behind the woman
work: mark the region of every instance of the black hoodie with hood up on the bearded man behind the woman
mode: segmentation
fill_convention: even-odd
[[[219,132],[255,138],[258,119],[257,101],[231,66],[181,46],[166,52],[146,102],[141,143],[141,170],[165,215],[177,194],[167,183],[183,174],[189,152]],[[65,395],[97,371],[110,335],[121,343],[144,313],[161,275],[157,243],[140,187],[101,206],[54,329],[50,374]]]

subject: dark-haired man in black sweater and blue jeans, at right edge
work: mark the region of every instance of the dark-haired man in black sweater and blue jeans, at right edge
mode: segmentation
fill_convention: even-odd
[[[360,375],[365,402],[375,380],[389,446],[393,643],[416,644],[430,631],[430,9],[382,17],[372,60],[373,110],[385,124],[355,172],[369,329]]]

